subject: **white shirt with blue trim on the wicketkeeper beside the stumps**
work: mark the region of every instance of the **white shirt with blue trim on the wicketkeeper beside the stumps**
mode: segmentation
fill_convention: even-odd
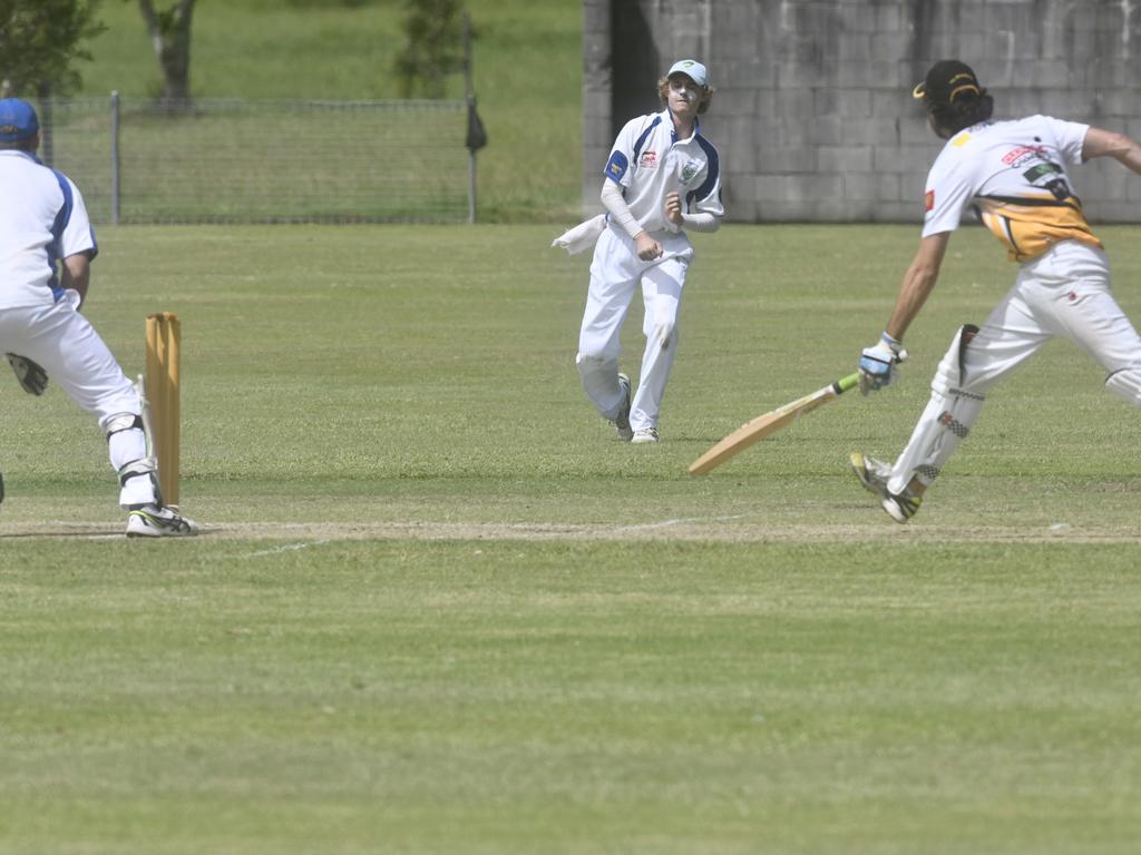
[[[26,152],[0,150],[0,309],[59,300],[58,262],[98,252],[83,196]]]

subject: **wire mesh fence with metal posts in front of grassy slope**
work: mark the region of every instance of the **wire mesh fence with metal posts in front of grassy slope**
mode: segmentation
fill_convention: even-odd
[[[463,101],[51,100],[40,156],[96,223],[466,222]]]

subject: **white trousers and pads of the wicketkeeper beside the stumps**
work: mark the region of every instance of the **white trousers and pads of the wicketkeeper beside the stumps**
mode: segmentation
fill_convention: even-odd
[[[0,309],[0,352],[27,357],[48,373],[67,396],[99,421],[106,432],[115,416],[138,416],[141,401],[95,327],[66,300],[16,309]],[[107,442],[116,473],[146,457],[146,434],[138,429],[119,431]],[[131,478],[120,491],[120,505],[132,507],[155,500],[149,478]]]

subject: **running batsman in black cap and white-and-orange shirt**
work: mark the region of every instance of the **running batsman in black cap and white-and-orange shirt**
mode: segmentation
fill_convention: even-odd
[[[950,234],[976,205],[1020,267],[981,327],[955,333],[911,441],[893,465],[853,451],[851,464],[897,522],[968,435],[987,390],[1049,340],[1069,339],[1106,370],[1106,388],[1141,407],[1141,336],[1110,288],[1109,262],[1086,222],[1068,168],[1112,157],[1141,173],[1141,146],[1114,131],[1035,115],[992,121],[994,101],[958,60],[932,66],[915,87],[947,145],[926,180],[923,236],[880,342],[859,360],[865,394],[895,378],[904,333],[939,276]]]

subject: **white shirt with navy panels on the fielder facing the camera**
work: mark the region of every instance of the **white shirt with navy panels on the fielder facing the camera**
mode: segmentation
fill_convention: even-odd
[[[669,111],[626,122],[605,174],[622,185],[630,213],[647,231],[673,230],[664,212],[671,192],[681,195],[685,213],[725,215],[717,149],[696,123],[688,139],[678,139]]]

